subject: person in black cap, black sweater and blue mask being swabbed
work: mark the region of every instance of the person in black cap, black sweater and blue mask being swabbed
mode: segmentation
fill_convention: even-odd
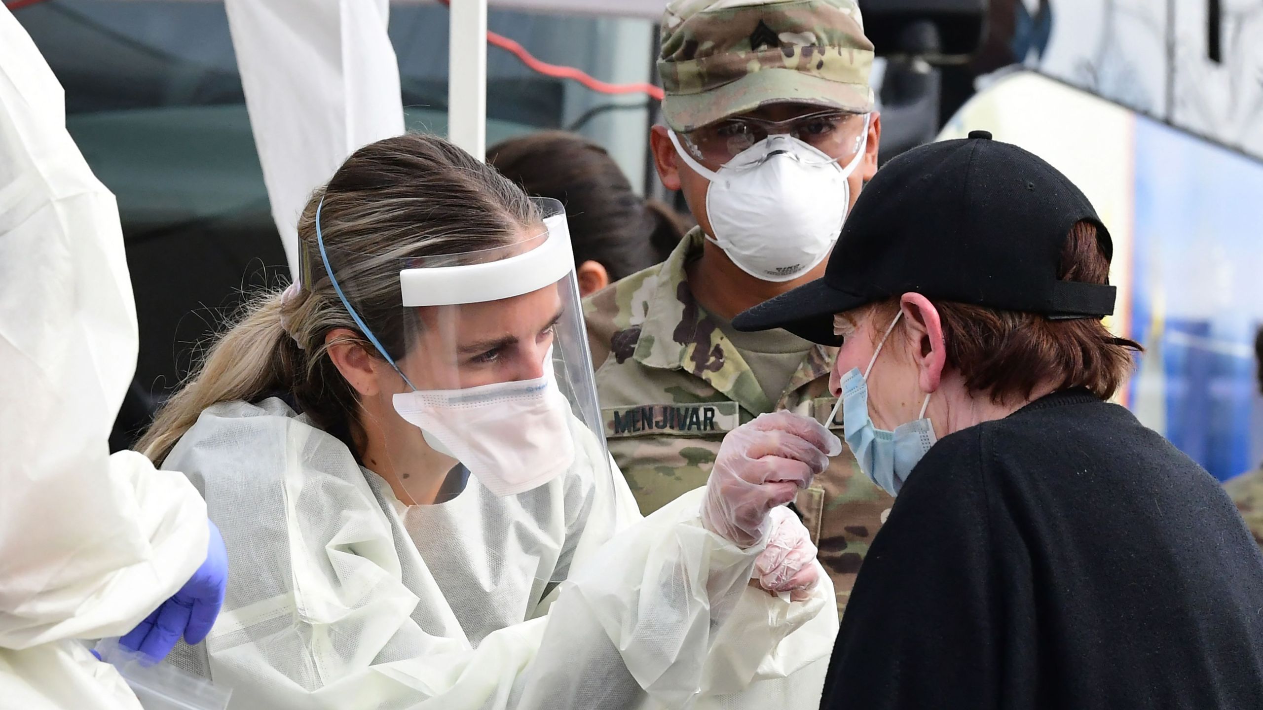
[[[976,131],[860,196],[826,275],[746,311],[841,345],[894,508],[822,707],[1263,707],[1263,556],[1215,480],[1106,400],[1138,346],[1065,176]]]

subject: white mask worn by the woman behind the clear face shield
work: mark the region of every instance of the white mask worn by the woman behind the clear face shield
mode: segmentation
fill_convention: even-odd
[[[557,389],[551,352],[541,378],[404,392],[394,408],[495,495],[541,486],[575,461],[570,403]]]

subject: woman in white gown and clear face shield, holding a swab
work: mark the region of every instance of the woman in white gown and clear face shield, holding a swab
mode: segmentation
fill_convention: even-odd
[[[781,504],[827,430],[762,417],[642,519],[560,202],[403,135],[355,152],[298,236],[299,280],[140,443],[229,548],[224,613],[177,665],[234,710],[818,704],[834,593]]]

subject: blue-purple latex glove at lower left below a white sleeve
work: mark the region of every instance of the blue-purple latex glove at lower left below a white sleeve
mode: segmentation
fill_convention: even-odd
[[[179,637],[189,644],[200,643],[211,633],[215,618],[224,605],[224,590],[229,581],[229,552],[215,523],[206,561],[174,595],[163,601],[144,622],[119,639],[119,644],[139,651],[158,662],[176,648]]]

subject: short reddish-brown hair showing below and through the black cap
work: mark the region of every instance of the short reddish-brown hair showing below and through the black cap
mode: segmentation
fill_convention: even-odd
[[[1096,239],[1096,227],[1081,221],[1071,227],[1061,253],[1057,278],[1106,283],[1109,259]],[[1118,392],[1134,368],[1140,345],[1114,337],[1092,318],[1050,320],[955,302],[933,302],[947,349],[947,366],[959,371],[971,393],[985,392],[993,402],[1029,399],[1048,380],[1057,389],[1086,388],[1101,399]],[[894,318],[898,299],[875,307]]]

